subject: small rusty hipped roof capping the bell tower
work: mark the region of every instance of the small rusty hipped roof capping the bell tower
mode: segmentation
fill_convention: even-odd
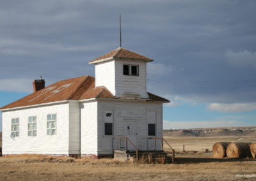
[[[143,55],[137,54],[135,52],[132,52],[131,50],[127,50],[122,47],[118,47],[115,50],[108,52],[105,55],[102,55],[101,57],[98,57],[97,59],[94,59],[93,61],[90,61],[90,64],[97,63],[104,61],[103,59],[107,59],[106,61],[109,61],[111,59],[129,59],[129,60],[136,60],[136,61],[148,61],[151,62],[153,59],[150,59],[148,57],[145,57]]]

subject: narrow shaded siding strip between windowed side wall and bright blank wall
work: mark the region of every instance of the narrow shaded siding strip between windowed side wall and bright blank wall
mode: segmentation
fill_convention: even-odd
[[[69,154],[80,154],[80,103],[69,101]]]

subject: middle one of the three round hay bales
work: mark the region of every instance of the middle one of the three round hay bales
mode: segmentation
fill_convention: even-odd
[[[228,158],[252,157],[250,152],[251,143],[230,143],[227,147]]]

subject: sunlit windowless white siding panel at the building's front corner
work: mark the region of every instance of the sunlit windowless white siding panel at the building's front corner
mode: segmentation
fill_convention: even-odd
[[[81,154],[97,152],[97,101],[81,103]]]

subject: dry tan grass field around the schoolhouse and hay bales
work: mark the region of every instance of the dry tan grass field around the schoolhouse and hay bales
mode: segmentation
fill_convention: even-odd
[[[175,164],[133,164],[113,159],[60,156],[0,157],[0,180],[247,180],[256,179],[256,159],[212,159],[215,141],[240,138],[169,138],[177,150]],[[255,141],[244,138],[243,141]],[[242,141],[238,140],[238,141]],[[180,152],[182,145],[185,150]],[[196,151],[196,152],[193,152]]]

